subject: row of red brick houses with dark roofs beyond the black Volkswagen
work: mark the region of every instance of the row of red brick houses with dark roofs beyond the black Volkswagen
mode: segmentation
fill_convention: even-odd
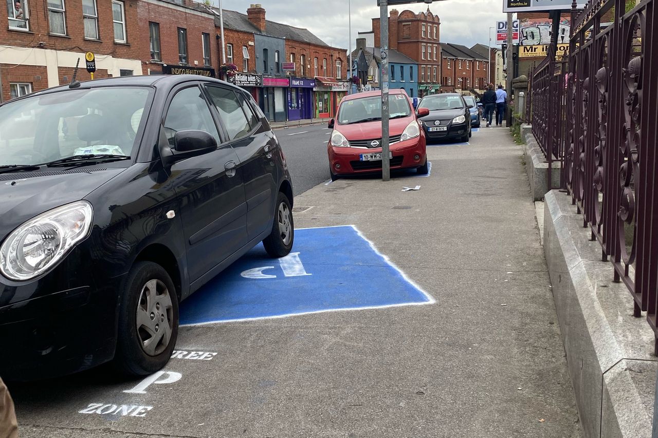
[[[483,91],[488,83],[486,56],[459,44],[441,43],[443,91]]]

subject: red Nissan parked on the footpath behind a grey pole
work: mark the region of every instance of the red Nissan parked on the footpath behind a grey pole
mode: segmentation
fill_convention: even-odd
[[[409,104],[407,93],[393,89],[388,97],[390,110],[391,169],[416,168],[427,174],[425,132]],[[427,112],[421,109],[418,117]],[[347,174],[382,170],[382,92],[367,91],[343,97],[327,145],[332,180]]]

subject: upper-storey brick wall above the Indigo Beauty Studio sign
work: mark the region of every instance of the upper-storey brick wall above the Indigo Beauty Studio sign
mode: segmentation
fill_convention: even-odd
[[[219,45],[216,39],[216,35],[219,32],[215,29],[215,18],[213,15],[203,14],[182,7],[176,8],[174,5],[165,2],[154,4],[139,1],[138,17],[141,33],[139,59],[145,62],[143,66],[145,74],[147,73],[147,68],[150,68],[152,73],[161,72],[163,63],[179,65],[178,28],[187,31],[188,64],[190,66],[204,67],[201,34],[206,33],[210,36],[210,66],[215,68],[215,70],[219,68],[221,55],[218,52]],[[151,62],[150,22],[158,23],[160,27],[161,62]]]

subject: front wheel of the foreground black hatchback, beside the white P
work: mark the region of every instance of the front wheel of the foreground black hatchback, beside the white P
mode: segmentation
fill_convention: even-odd
[[[153,374],[168,362],[177,337],[174,282],[159,264],[137,262],[122,289],[114,368],[130,376]]]

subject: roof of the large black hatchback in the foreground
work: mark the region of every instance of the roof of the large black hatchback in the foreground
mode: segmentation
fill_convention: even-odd
[[[95,79],[95,80],[80,82],[80,87],[76,87],[74,89],[89,88],[89,87],[93,87],[93,88],[112,87],[112,86],[121,86],[121,85],[123,86],[138,85],[138,86],[151,86],[156,88],[159,87],[171,88],[174,87],[175,85],[182,84],[183,82],[190,82],[190,81],[216,82],[217,84],[228,85],[234,89],[241,90],[240,87],[236,87],[236,85],[229,84],[228,82],[220,81],[215,78],[209,78],[207,76],[201,76],[198,74],[151,74],[151,75],[139,75],[139,76],[120,76],[118,78]],[[66,89],[70,89],[68,84],[57,85],[56,87],[39,90],[29,95],[26,95],[24,97],[54,93],[57,91],[64,91]]]

